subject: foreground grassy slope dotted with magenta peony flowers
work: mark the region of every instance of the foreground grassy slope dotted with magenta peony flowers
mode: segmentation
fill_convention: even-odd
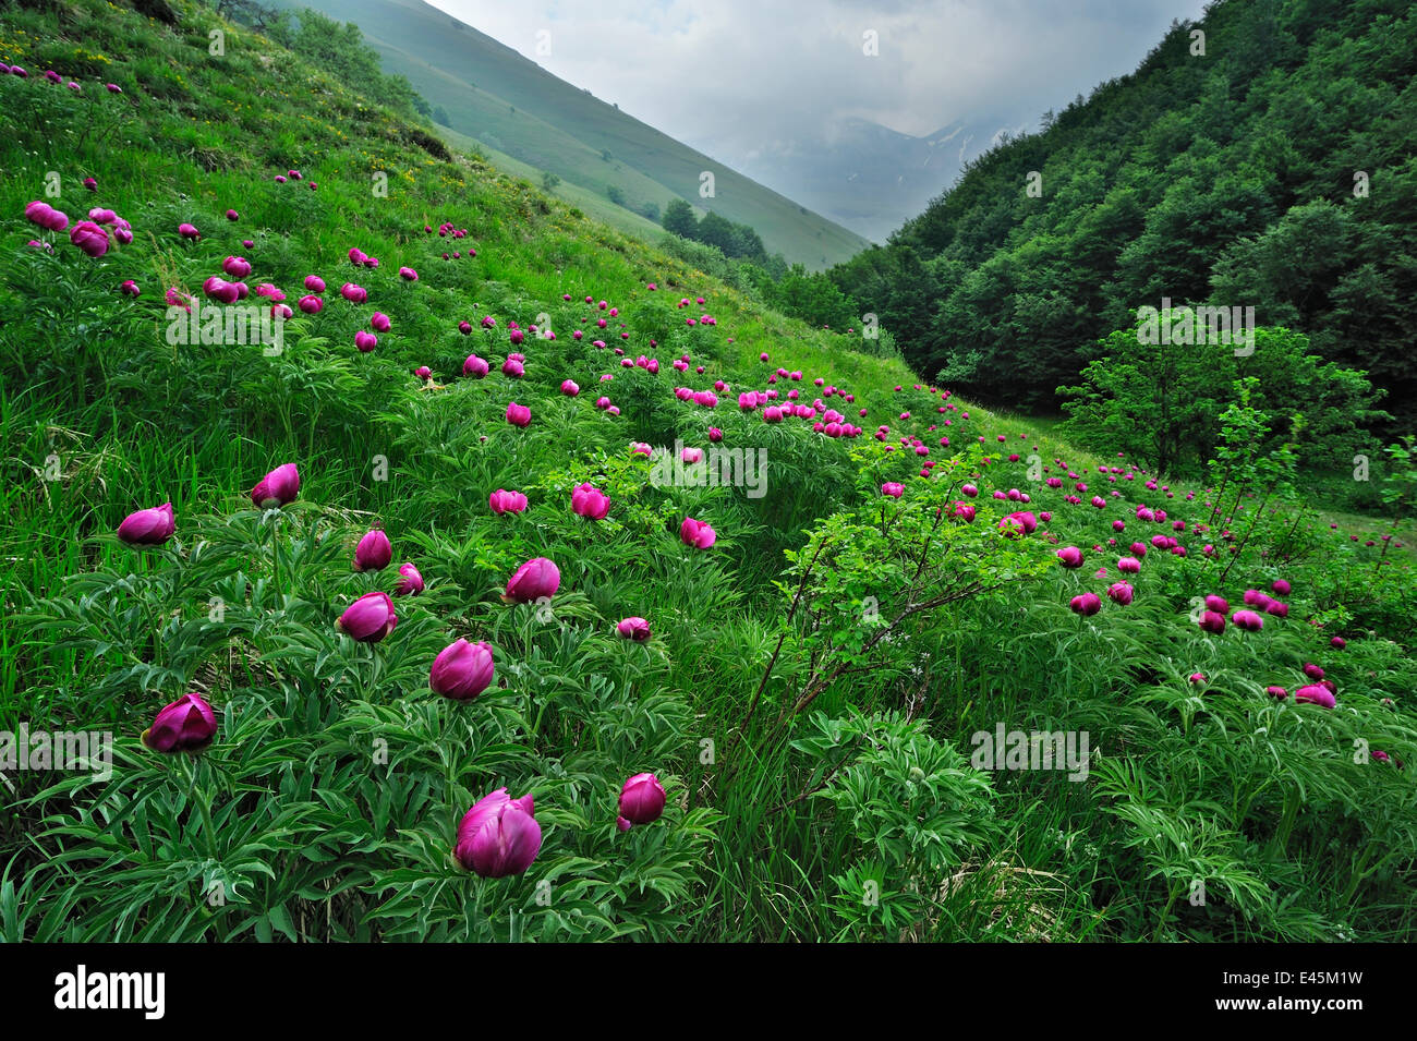
[[[0,938],[1411,939],[1401,540],[1243,436],[1180,487],[973,408],[176,11],[0,11]],[[281,341],[183,343],[238,280]]]

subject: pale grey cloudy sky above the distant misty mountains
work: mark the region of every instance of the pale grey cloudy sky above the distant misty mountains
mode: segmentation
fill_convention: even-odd
[[[958,120],[1033,130],[1131,72],[1204,0],[429,0],[548,72],[721,159]],[[864,54],[874,33],[879,55]],[[541,44],[538,51],[538,42]],[[544,52],[547,51],[548,52]]]

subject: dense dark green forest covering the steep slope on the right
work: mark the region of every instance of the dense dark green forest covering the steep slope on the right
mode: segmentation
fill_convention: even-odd
[[[1221,0],[830,276],[915,367],[998,402],[1051,406],[1169,299],[1305,333],[1410,429],[1414,71],[1400,0]]]

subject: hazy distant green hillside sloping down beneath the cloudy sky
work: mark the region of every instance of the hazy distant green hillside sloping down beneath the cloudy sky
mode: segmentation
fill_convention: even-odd
[[[285,6],[315,7],[357,24],[384,55],[385,69],[408,76],[432,105],[444,106],[453,130],[602,198],[611,186],[618,187],[635,212],[646,203],[663,211],[670,200],[684,198],[700,212],[711,208],[752,227],[769,254],[781,252],[811,271],[867,245],[856,232],[557,79],[422,0],[292,0]],[[699,195],[706,170],[716,178],[711,200]]]

